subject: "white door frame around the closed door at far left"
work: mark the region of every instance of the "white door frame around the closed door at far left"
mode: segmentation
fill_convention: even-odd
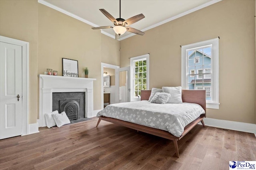
[[[22,136],[29,134],[29,43],[0,35],[0,42],[22,46]]]

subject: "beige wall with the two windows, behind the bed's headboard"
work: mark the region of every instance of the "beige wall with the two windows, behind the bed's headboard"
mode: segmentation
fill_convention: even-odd
[[[121,41],[120,67],[150,53],[150,89],[181,85],[181,48],[220,36],[220,109],[207,117],[256,123],[254,0],[223,0]]]

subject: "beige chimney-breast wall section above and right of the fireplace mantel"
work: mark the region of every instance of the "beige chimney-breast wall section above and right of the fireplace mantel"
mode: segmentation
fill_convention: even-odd
[[[46,68],[62,75],[62,57],[78,61],[78,76],[89,68],[88,78],[94,81],[94,109],[101,105],[101,35],[91,26],[61,12],[38,4],[38,74]]]

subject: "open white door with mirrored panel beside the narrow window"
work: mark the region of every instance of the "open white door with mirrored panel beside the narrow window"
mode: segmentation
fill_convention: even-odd
[[[130,66],[116,69],[117,103],[130,102]]]

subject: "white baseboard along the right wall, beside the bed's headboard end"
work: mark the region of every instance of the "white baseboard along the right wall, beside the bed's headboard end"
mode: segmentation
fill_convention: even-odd
[[[207,126],[220,127],[223,129],[254,133],[254,135],[256,136],[256,124],[252,123],[212,119],[206,117],[204,118],[204,124]]]

